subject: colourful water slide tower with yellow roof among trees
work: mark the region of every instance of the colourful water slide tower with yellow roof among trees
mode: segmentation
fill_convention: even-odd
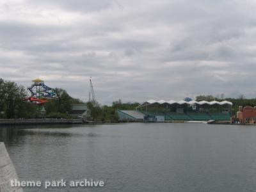
[[[35,79],[32,81],[30,87],[28,87],[28,91],[30,92],[31,96],[28,97],[26,100],[38,106],[38,112],[41,115],[45,114],[44,104],[48,102],[49,99],[56,98],[55,90],[46,86],[42,79]]]

